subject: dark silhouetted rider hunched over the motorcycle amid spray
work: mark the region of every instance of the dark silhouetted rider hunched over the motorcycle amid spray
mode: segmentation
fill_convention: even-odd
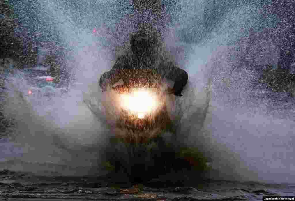
[[[182,96],[181,92],[188,81],[188,74],[185,70],[176,67],[172,62],[167,62],[159,57],[158,47],[160,45],[157,34],[141,30],[132,35],[130,40],[131,51],[127,55],[117,59],[112,69],[104,73],[99,86],[102,91],[111,88],[122,79],[121,70],[153,70],[161,76],[174,81],[172,89],[168,89],[168,94]],[[136,79],[136,78],[135,78]],[[132,80],[124,80],[124,85]]]

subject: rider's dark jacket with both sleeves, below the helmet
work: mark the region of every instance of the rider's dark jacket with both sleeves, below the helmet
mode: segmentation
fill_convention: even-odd
[[[140,79],[143,78],[143,79]],[[123,55],[117,59],[113,68],[101,75],[99,86],[103,91],[111,87],[119,80],[123,80],[124,85],[139,84],[142,80],[145,84],[152,85],[153,80],[167,78],[173,80],[174,94],[180,95],[183,87],[188,80],[188,74],[185,70],[176,67],[172,62],[154,56],[138,56],[132,52]]]

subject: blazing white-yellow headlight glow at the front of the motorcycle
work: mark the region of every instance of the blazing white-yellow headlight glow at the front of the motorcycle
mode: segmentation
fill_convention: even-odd
[[[122,94],[121,103],[125,110],[136,113],[140,119],[154,111],[158,105],[155,95],[147,90],[136,90],[131,94]]]

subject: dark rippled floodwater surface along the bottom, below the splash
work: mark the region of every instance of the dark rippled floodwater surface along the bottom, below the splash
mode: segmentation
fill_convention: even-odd
[[[116,179],[114,179],[116,177]],[[222,180],[169,178],[132,184],[120,175],[108,177],[41,177],[2,171],[2,200],[262,200],[263,196],[295,196],[295,184],[263,184]],[[8,198],[8,199],[7,199]]]

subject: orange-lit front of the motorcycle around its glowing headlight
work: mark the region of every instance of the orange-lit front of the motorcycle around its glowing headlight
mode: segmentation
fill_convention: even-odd
[[[143,143],[163,133],[171,124],[166,97],[158,88],[118,85],[103,92],[102,108],[117,138]]]

